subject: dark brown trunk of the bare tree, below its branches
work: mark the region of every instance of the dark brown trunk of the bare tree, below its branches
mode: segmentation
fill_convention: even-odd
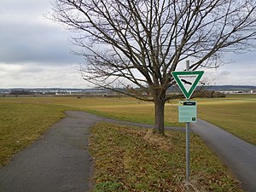
[[[165,103],[166,93],[161,93],[154,98],[154,134],[165,135]]]

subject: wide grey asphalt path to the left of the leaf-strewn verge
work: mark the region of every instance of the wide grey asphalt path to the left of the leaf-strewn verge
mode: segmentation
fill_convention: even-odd
[[[90,125],[100,118],[67,112],[38,141],[0,169],[0,192],[85,192],[90,189]]]

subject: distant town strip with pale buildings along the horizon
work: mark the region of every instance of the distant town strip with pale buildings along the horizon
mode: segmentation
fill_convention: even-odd
[[[256,86],[250,85],[214,85],[206,86],[205,90],[218,91],[224,94],[256,94]],[[170,88],[169,92],[175,92],[177,89]],[[50,95],[105,95],[113,94],[112,91],[106,89],[69,89],[69,88],[11,88],[0,89],[1,96],[50,96]]]

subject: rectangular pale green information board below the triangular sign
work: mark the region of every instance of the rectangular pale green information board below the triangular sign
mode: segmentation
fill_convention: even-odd
[[[195,101],[178,102],[178,122],[192,123],[196,122],[197,105]]]

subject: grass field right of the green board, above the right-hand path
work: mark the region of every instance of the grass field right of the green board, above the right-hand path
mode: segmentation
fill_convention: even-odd
[[[256,145],[256,95],[199,99],[198,116]]]

